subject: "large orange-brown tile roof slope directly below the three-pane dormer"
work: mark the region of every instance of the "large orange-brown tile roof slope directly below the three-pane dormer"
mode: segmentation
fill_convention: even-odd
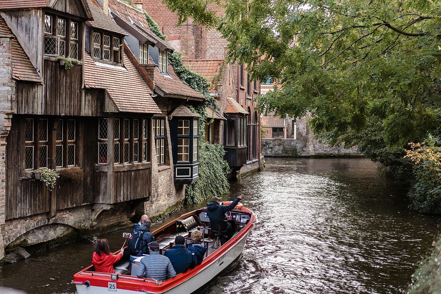
[[[84,52],[84,82],[87,88],[105,89],[120,112],[161,113],[152,90],[124,53],[124,67],[95,63]]]

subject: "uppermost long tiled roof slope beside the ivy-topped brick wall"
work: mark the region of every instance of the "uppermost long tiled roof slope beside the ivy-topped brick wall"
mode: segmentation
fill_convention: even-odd
[[[172,46],[170,46],[170,44],[163,41],[160,37],[157,37],[157,35],[155,35],[150,30],[149,23],[146,20],[146,16],[141,10],[135,7],[131,7],[120,0],[109,0],[109,8],[114,15],[129,24],[132,28],[135,28],[138,33],[142,33],[144,36],[153,39],[153,44],[155,44],[155,46],[159,49],[168,52],[173,52],[175,50]],[[119,21],[118,18],[115,18],[115,21],[117,23]],[[125,28],[123,24],[119,25],[127,30],[127,28]],[[133,34],[133,36],[137,37],[136,34]]]

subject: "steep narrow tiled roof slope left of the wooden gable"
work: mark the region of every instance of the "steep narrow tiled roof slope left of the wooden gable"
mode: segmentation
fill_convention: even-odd
[[[14,36],[5,20],[0,16],[0,35]],[[24,52],[19,41],[11,38],[12,78],[19,81],[42,82],[37,70],[30,63],[29,57]]]

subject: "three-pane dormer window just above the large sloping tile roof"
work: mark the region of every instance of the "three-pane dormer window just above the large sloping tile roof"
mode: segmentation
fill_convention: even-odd
[[[94,59],[113,63],[121,63],[121,38],[106,33],[93,32],[92,34]]]

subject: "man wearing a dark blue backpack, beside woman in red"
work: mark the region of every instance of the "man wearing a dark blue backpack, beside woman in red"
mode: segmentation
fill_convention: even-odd
[[[132,233],[132,238],[129,239],[127,247],[130,252],[130,261],[149,254],[149,243],[155,241],[155,237],[150,233],[152,221],[149,219],[142,220],[135,224],[135,229]]]

